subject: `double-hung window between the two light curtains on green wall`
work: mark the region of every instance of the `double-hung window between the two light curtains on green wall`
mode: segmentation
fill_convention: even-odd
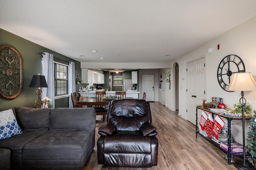
[[[55,96],[68,94],[68,66],[54,62]]]

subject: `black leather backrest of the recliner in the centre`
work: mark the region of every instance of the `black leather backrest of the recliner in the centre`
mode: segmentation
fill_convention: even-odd
[[[107,121],[115,125],[116,131],[140,131],[142,125],[151,122],[149,103],[139,99],[113,100]]]

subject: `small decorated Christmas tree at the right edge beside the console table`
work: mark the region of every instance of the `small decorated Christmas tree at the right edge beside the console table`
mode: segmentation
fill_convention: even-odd
[[[246,139],[246,143],[247,143],[247,150],[248,152],[252,155],[252,158],[256,157],[256,111],[253,111],[254,115],[253,117],[251,117],[250,119],[250,128],[247,131],[247,139]]]

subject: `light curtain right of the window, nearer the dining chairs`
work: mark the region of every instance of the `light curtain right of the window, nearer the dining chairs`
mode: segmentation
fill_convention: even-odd
[[[70,62],[68,65],[68,93],[69,93],[69,100],[68,100],[68,107],[72,108],[72,100],[71,100],[71,93],[76,92],[76,73],[75,73],[75,63]]]

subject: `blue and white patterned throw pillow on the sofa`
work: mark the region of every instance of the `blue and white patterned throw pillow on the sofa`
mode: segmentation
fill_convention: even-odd
[[[12,109],[0,111],[0,140],[21,134]]]

